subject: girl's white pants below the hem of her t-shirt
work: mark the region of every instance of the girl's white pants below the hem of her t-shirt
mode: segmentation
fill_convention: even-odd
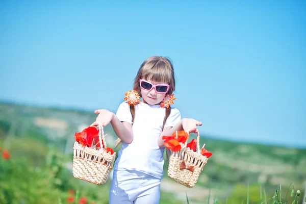
[[[157,204],[161,180],[134,170],[114,170],[110,188],[110,204]]]

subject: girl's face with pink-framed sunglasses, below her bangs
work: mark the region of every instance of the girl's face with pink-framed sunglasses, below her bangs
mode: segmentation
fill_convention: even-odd
[[[143,80],[143,82],[140,82],[140,83],[141,83],[140,84],[141,95],[142,95],[142,99],[144,100],[143,102],[149,105],[159,105],[161,101],[164,99],[167,92],[164,92],[164,93],[157,92],[156,89],[158,91],[164,91],[163,89],[164,87],[160,87],[159,85],[169,86],[168,83],[166,82],[154,82],[150,80],[147,80],[147,81]],[[158,85],[158,87],[150,87],[149,84]]]

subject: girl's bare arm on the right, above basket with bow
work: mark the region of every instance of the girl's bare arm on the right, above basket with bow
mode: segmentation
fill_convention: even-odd
[[[183,118],[182,120],[177,122],[173,127],[166,127],[158,138],[159,147],[165,147],[164,140],[162,139],[163,136],[170,136],[175,131],[182,131],[182,130],[188,133],[197,133],[196,125],[201,126],[202,123],[192,118]]]

